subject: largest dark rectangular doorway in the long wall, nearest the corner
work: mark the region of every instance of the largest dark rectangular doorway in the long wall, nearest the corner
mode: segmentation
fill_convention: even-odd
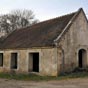
[[[29,72],[39,72],[39,53],[29,54]]]

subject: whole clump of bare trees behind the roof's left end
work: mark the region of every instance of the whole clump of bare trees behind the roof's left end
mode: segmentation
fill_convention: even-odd
[[[31,26],[38,22],[31,10],[13,10],[9,14],[0,16],[0,31],[7,34],[13,30]]]

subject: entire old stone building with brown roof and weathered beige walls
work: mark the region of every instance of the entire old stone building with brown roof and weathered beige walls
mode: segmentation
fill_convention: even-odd
[[[15,30],[0,42],[0,72],[57,76],[88,66],[88,22],[74,13]]]

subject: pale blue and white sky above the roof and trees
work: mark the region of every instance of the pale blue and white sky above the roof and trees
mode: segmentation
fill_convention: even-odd
[[[0,14],[16,9],[32,10],[40,21],[65,15],[83,8],[88,16],[88,0],[1,0]]]

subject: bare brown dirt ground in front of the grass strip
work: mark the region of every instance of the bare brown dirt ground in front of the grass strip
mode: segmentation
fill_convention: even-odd
[[[0,88],[88,88],[88,78],[43,82],[0,79]]]

